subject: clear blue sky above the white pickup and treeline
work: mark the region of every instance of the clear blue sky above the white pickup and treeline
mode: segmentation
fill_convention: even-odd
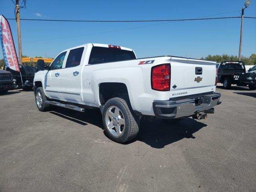
[[[226,17],[240,16],[243,4],[244,0],[27,0],[26,9],[20,10],[20,16],[66,20],[186,19],[214,14],[218,15],[210,17]],[[14,18],[11,0],[1,0],[0,14]],[[245,16],[256,17],[256,0],[246,8]],[[17,49],[16,22],[9,20],[9,23]],[[122,30],[128,28],[134,29]],[[120,31],[108,32],[113,30]],[[240,18],[159,23],[21,21],[21,31],[22,54],[30,57],[47,55],[54,58],[66,48],[95,42],[133,48],[138,57],[200,58],[208,54],[238,55]],[[76,37],[66,38],[70,36]],[[244,19],[242,55],[252,53],[256,53],[256,19]]]

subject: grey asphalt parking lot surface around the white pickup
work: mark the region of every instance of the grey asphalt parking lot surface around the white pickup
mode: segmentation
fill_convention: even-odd
[[[232,86],[206,120],[141,120],[127,144],[99,110],[39,112],[33,92],[0,96],[0,191],[256,191],[256,91]]]

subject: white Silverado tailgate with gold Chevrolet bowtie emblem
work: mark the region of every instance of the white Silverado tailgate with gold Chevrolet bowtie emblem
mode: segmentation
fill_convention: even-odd
[[[171,59],[170,98],[215,91],[216,62]]]

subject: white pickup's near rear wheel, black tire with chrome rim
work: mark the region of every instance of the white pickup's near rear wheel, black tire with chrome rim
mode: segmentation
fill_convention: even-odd
[[[115,142],[127,142],[138,134],[140,119],[122,98],[115,97],[106,102],[102,120],[106,133]]]

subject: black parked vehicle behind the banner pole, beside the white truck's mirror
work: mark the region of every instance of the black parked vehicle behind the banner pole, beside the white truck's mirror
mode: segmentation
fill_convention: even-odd
[[[35,76],[35,73],[38,71],[37,68],[32,66],[25,66],[25,65],[19,65],[19,66],[20,66],[20,72],[17,72],[10,68],[6,68],[5,66],[5,70],[10,71],[12,73],[14,89],[22,88],[23,90],[32,90],[34,76]],[[20,78],[20,73],[22,76],[23,85]]]

